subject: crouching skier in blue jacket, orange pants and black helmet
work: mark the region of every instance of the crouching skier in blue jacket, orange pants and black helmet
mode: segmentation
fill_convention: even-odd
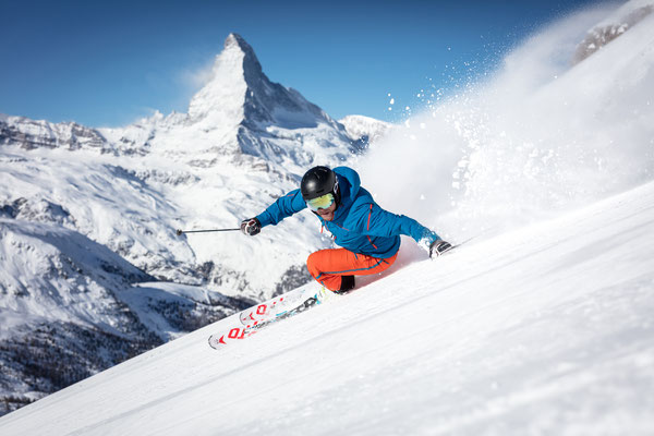
[[[416,220],[380,208],[361,186],[356,171],[348,167],[310,169],[299,190],[278,198],[261,215],[243,220],[241,231],[258,234],[263,227],[277,225],[305,207],[342,247],[319,250],[306,259],[313,278],[336,293],[353,289],[354,276],[382,272],[391,266],[400,250],[400,234],[428,249],[429,257],[452,247]]]

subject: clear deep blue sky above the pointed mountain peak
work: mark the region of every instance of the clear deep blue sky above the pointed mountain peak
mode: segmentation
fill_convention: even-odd
[[[421,89],[451,88],[593,3],[0,0],[0,113],[118,126],[154,110],[185,112],[234,32],[271,81],[334,118],[398,121],[404,107],[420,108]]]

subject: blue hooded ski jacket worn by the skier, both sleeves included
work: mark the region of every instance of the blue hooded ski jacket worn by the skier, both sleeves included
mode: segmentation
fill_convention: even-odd
[[[356,171],[348,167],[334,169],[338,178],[340,203],[331,221],[314,214],[332,234],[336,244],[354,253],[378,258],[395,256],[400,249],[400,234],[428,246],[438,235],[416,220],[384,210],[361,186]],[[282,219],[306,208],[300,190],[278,198],[256,218],[262,227],[277,225]]]

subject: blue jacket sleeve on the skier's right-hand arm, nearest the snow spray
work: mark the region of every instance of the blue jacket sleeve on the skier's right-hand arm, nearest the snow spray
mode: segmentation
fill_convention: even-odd
[[[396,237],[405,234],[420,244],[427,246],[437,239],[436,232],[422,226],[413,218],[391,214],[376,203],[358,205],[354,210],[355,230],[370,237]]]

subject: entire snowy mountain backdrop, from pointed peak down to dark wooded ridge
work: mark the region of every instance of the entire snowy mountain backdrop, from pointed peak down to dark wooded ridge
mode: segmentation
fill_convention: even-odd
[[[306,255],[326,243],[305,217],[257,239],[175,229],[238,227],[307,167],[346,162],[363,144],[271,83],[233,34],[187,113],[121,129],[1,116],[7,407],[304,283]]]

